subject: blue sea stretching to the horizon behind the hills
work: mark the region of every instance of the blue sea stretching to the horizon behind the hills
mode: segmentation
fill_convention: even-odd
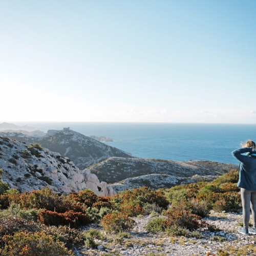
[[[16,123],[21,125],[19,123]],[[35,130],[71,130],[83,135],[107,136],[105,142],[133,156],[174,161],[209,160],[238,164],[231,152],[247,139],[256,140],[256,124],[202,123],[23,123]]]

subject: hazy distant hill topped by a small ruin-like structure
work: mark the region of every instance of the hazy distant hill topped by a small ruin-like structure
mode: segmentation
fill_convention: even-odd
[[[110,157],[131,157],[129,154],[100,141],[74,132],[69,128],[49,130],[43,137],[32,137],[23,133],[2,132],[5,136],[29,144],[39,143],[50,151],[70,158],[77,167],[84,169]]]

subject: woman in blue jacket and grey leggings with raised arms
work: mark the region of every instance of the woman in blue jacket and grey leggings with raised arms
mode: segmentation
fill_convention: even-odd
[[[242,148],[232,152],[232,156],[240,161],[238,187],[241,188],[243,227],[238,231],[241,234],[256,234],[256,151],[254,150],[255,142],[247,140]],[[250,208],[252,228],[249,228]]]

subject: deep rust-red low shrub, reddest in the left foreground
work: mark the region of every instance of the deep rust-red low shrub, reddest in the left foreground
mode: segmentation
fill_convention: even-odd
[[[73,210],[64,213],[42,210],[38,215],[38,220],[46,225],[69,225],[70,227],[79,227],[90,222],[90,219],[86,214],[75,212]]]

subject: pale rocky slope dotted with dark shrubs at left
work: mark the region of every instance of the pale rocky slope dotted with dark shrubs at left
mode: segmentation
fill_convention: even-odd
[[[90,170],[82,172],[67,157],[6,137],[0,137],[0,168],[3,182],[22,192],[49,186],[58,193],[71,193],[85,188],[97,195],[113,195],[113,189],[99,182]]]

